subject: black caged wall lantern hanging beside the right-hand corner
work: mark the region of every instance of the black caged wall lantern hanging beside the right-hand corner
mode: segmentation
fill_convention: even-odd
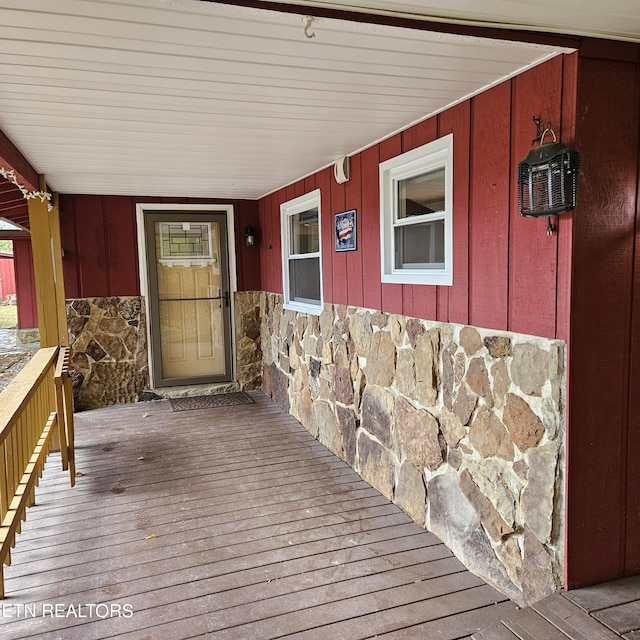
[[[553,142],[545,144],[548,132]],[[551,129],[544,131],[540,143],[518,165],[518,204],[520,215],[526,217],[571,211],[577,202],[580,155],[557,142]]]

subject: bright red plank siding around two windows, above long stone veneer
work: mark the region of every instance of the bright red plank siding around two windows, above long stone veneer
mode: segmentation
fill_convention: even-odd
[[[566,275],[569,257],[559,247],[571,229],[571,214],[559,219],[551,236],[546,219],[522,218],[516,168],[532,148],[533,116],[551,121],[560,140],[572,138],[575,105],[563,91],[565,84],[575,84],[571,61],[555,58],[353,155],[352,178],[344,185],[329,168],[263,198],[262,288],[282,293],[280,204],[320,188],[325,302],[549,338],[564,335],[557,318],[567,322],[568,298],[560,296],[558,277]],[[381,284],[378,165],[448,133],[454,135],[455,164],[453,286]],[[358,248],[336,252],[334,215],[353,208]]]

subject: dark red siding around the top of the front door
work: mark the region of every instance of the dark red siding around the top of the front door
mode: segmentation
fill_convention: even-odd
[[[61,195],[60,227],[67,298],[140,294],[136,204],[232,204],[238,289],[260,288],[260,252],[244,246],[244,229],[260,228],[257,202],[195,198]]]

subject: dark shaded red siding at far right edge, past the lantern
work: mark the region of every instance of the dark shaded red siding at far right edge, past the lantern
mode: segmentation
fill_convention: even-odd
[[[640,572],[640,46],[584,49],[573,217],[568,586]]]

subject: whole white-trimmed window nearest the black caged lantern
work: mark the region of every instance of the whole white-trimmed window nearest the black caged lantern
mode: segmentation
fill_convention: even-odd
[[[380,163],[382,282],[453,284],[453,134]]]

